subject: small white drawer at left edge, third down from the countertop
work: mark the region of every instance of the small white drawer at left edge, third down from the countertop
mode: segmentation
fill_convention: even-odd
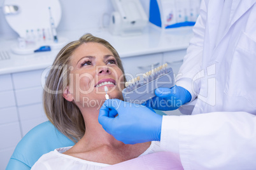
[[[17,122],[18,115],[16,107],[0,108],[0,124]]]

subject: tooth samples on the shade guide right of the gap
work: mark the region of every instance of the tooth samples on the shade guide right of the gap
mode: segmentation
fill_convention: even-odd
[[[146,72],[146,74],[143,74],[144,81],[152,81],[160,75],[165,74],[167,66],[167,63],[165,63],[155,69],[150,70],[149,72]]]

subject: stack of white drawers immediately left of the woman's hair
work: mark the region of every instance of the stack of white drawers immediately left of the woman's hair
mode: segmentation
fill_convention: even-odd
[[[12,75],[21,134],[24,136],[34,126],[47,121],[43,110],[43,85],[45,69],[19,72]]]

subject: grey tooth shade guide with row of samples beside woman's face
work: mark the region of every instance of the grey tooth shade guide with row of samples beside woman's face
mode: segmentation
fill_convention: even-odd
[[[167,68],[167,63],[146,72],[143,79],[139,80],[140,77],[136,77],[125,82],[126,88],[122,91],[124,101],[141,104],[155,96],[155,89],[171,88],[175,85],[173,69]]]

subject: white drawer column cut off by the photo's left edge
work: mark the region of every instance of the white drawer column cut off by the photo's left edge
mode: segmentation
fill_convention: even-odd
[[[0,75],[0,136],[0,169],[5,169],[22,138],[11,74]]]

